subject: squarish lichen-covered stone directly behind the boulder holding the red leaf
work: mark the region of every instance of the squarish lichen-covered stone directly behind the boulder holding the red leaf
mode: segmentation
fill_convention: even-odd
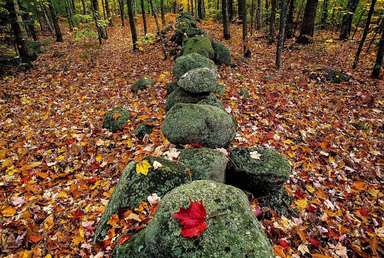
[[[179,161],[190,168],[193,181],[224,183],[227,158],[223,152],[208,148],[185,149],[180,153]]]

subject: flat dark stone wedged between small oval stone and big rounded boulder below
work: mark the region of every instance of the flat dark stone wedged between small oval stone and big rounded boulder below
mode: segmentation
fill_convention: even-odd
[[[199,93],[192,94],[188,91],[185,91],[181,88],[174,90],[166,99],[165,109],[169,111],[176,103],[192,103],[196,104],[202,100],[217,100],[214,93]]]

